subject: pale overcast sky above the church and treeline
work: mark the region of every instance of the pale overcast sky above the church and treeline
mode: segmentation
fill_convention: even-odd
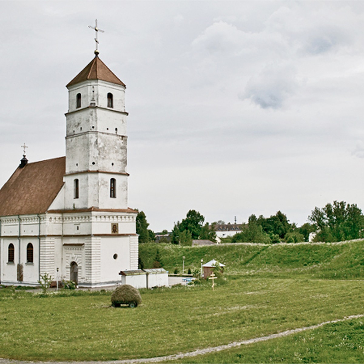
[[[364,1],[0,1],[0,185],[65,155],[65,85],[126,84],[128,205],[155,232],[364,209]]]

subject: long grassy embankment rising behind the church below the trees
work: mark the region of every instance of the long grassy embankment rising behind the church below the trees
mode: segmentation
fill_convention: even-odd
[[[181,247],[171,244],[140,244],[145,268],[153,265],[157,249],[163,267],[170,272],[199,268],[201,259],[226,265],[228,275],[261,277],[357,279],[364,278],[364,241],[343,244],[215,245]]]

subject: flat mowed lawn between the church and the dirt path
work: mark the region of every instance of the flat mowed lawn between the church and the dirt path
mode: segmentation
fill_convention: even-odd
[[[0,289],[0,357],[115,360],[227,344],[363,314],[364,282],[231,276],[214,291],[207,286],[143,290],[142,299],[135,309],[111,308],[107,293],[36,298]],[[254,345],[261,351],[269,344]],[[217,362],[244,362],[242,350]]]

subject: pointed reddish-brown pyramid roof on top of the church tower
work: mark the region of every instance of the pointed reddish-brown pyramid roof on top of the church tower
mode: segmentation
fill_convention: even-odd
[[[97,55],[74,79],[68,82],[66,87],[87,80],[103,80],[125,86],[125,84],[110,71]]]

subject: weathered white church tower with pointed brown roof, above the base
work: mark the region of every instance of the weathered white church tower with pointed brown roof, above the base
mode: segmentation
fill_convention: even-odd
[[[65,209],[127,209],[125,84],[100,60],[66,86]]]

